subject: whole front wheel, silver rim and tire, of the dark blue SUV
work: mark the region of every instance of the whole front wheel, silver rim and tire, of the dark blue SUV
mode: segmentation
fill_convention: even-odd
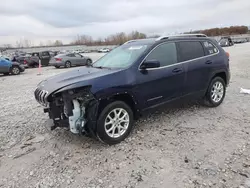
[[[101,112],[97,121],[97,137],[106,144],[118,144],[129,135],[133,125],[131,108],[122,101],[115,101]]]

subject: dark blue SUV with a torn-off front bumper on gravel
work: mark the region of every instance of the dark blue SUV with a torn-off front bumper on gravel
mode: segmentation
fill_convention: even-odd
[[[129,41],[94,64],[42,81],[36,100],[54,121],[107,144],[124,140],[134,119],[178,99],[219,106],[229,84],[229,55],[205,35]]]

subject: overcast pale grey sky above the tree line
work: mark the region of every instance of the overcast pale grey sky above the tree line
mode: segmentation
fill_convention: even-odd
[[[250,25],[250,0],[0,0],[0,45]]]

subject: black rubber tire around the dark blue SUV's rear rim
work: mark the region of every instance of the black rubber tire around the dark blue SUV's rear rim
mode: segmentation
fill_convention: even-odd
[[[220,91],[223,91],[223,94],[221,97],[218,98],[218,101],[215,101],[215,99],[213,99],[213,88],[214,88],[216,83],[220,83],[223,86],[223,88],[220,89]],[[215,77],[212,79],[212,81],[208,87],[206,95],[203,99],[203,104],[205,106],[208,106],[208,107],[217,107],[223,102],[223,100],[225,98],[225,94],[226,94],[225,81],[221,77]]]

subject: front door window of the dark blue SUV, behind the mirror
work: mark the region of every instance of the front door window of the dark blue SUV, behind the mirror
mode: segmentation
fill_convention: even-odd
[[[146,58],[146,61],[157,60],[160,67],[173,65],[178,62],[175,43],[165,43],[156,47]]]

